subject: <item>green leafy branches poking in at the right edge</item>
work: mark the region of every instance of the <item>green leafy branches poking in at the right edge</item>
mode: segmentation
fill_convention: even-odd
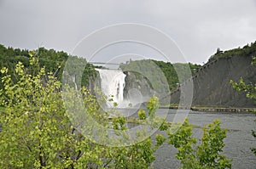
[[[255,44],[255,43],[254,43]],[[253,61],[252,61],[252,65],[256,64],[256,57],[253,57]],[[233,88],[236,89],[236,91],[238,92],[245,92],[247,98],[249,99],[253,99],[254,101],[256,101],[256,83],[246,83],[243,81],[242,77],[240,79],[239,82],[234,82],[233,80],[230,80],[230,83],[232,84]],[[254,111],[254,113],[256,114],[256,111]],[[256,138],[256,134],[255,131],[252,130],[252,135],[253,138]],[[256,155],[256,148],[251,148],[254,155]]]

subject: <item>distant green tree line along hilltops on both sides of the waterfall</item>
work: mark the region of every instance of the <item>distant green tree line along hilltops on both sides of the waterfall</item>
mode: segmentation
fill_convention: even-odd
[[[15,72],[14,68],[15,65],[20,61],[25,67],[26,70],[32,70],[29,65],[30,53],[28,49],[20,49],[20,48],[6,48],[0,44],[0,67],[7,67],[9,72],[12,75],[12,79],[15,80]],[[62,73],[64,66],[66,65],[66,61],[68,57],[73,57],[74,63],[84,63],[86,62],[85,59],[79,58],[77,56],[72,56],[67,54],[63,51],[55,51],[54,49],[46,49],[46,48],[38,48],[34,51],[36,56],[38,57],[39,67],[45,67],[46,72],[52,72],[53,74],[58,70],[57,76],[59,80],[61,80]],[[209,61],[219,58],[227,58],[233,56],[255,56],[256,55],[256,42],[252,42],[247,44],[243,48],[234,48],[227,51],[222,51],[220,48],[217,49],[216,54],[213,54]],[[166,81],[170,87],[170,90],[174,90],[179,83],[184,82],[189,78],[189,74],[187,73],[188,65],[183,63],[170,63],[164,62],[154,59],[147,59],[147,60],[130,60],[129,63],[120,65],[121,70],[125,70],[129,68],[129,70],[137,70],[137,67],[140,69],[147,69],[147,65],[149,62],[154,62],[160,70],[164,73],[166,77]],[[90,83],[90,79],[96,77],[97,72],[95,70],[96,66],[91,65],[89,63],[85,64],[84,72],[82,75],[82,79],[76,79],[76,81],[81,81],[81,86],[88,87]],[[194,75],[195,71],[198,70],[201,65],[196,65],[189,63],[189,69],[191,70],[192,76]],[[73,72],[77,71],[76,66],[73,66]],[[179,72],[179,76],[177,76],[177,71]],[[135,72],[137,78],[141,78],[139,74]],[[151,79],[155,79],[155,82],[158,82],[159,76],[155,76],[154,74],[151,75]],[[0,75],[0,78],[2,75]],[[0,82],[0,87],[3,87],[2,82]]]

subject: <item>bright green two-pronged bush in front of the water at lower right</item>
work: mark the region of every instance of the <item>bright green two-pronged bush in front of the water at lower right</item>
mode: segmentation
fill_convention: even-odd
[[[230,160],[219,154],[226,137],[226,129],[220,128],[220,121],[215,120],[203,128],[201,144],[197,147],[192,127],[186,119],[181,126],[167,132],[168,144],[178,149],[176,156],[183,168],[231,168]]]

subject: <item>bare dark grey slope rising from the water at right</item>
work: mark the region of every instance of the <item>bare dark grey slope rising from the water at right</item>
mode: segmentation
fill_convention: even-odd
[[[232,56],[213,59],[197,71],[192,80],[194,93],[192,106],[255,107],[245,92],[237,92],[230,84],[232,79],[238,82],[256,83],[256,65],[251,65],[248,56]],[[182,84],[186,85],[186,83]],[[179,103],[180,90],[171,94],[171,103]]]

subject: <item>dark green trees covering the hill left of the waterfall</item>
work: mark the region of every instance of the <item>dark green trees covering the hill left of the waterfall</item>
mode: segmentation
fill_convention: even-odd
[[[39,62],[39,68],[45,69],[45,72],[52,72],[53,76],[58,77],[61,81],[61,76],[64,70],[67,59],[73,59],[74,64],[84,64],[84,72],[82,79],[77,79],[77,83],[81,83],[82,86],[87,87],[89,85],[90,79],[96,78],[95,66],[86,63],[85,59],[81,59],[77,56],[69,55],[63,51],[56,52],[54,49],[38,48],[37,50],[29,51],[27,49],[20,48],[5,48],[0,44],[0,67],[6,67],[9,69],[9,74],[11,79],[15,81],[15,65],[21,62],[26,71],[35,70],[32,65],[30,65],[31,54],[36,55]],[[73,67],[73,72],[77,72],[77,67]],[[3,77],[2,75],[0,78]],[[80,82],[79,82],[80,81]],[[3,83],[0,82],[0,87],[3,87]]]

